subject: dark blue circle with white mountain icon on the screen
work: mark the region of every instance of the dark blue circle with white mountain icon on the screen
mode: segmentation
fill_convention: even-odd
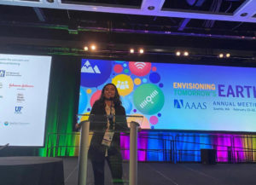
[[[112,72],[112,61],[82,59],[81,85],[97,87],[105,83]]]

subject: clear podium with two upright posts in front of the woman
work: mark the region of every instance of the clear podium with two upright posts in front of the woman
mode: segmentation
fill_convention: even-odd
[[[100,133],[103,135],[107,123],[110,124],[110,127],[113,127],[115,133],[130,133],[129,185],[137,185],[137,129],[143,122],[143,116],[114,115],[110,117],[107,115],[92,114],[79,114],[78,116],[82,117],[83,120],[80,122],[78,185],[86,185],[87,181],[89,131],[91,130],[94,131],[94,134]],[[128,128],[129,125],[130,130]]]

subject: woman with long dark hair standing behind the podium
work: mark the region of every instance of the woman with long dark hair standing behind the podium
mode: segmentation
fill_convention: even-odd
[[[91,108],[90,130],[94,131],[94,135],[88,154],[94,171],[95,185],[104,184],[105,159],[108,161],[113,183],[123,184],[119,131],[128,130],[128,127],[125,108],[121,106],[119,93],[114,84],[106,84],[103,87],[100,99]]]

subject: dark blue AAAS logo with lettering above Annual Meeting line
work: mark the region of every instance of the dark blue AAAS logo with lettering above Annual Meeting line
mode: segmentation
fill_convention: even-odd
[[[207,109],[207,102],[184,102],[183,100],[174,100],[174,108],[183,108],[183,109]]]

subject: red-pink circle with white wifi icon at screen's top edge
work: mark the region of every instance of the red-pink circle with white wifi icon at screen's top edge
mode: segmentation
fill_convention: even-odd
[[[143,77],[151,70],[151,63],[142,61],[130,61],[129,68],[132,74]]]

